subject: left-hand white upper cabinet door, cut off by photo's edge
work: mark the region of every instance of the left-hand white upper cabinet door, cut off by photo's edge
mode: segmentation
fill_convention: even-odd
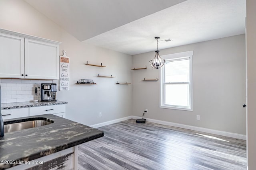
[[[24,78],[24,38],[0,33],[0,77]]]

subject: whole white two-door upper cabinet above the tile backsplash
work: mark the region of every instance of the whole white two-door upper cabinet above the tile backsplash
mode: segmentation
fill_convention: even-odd
[[[59,44],[0,29],[0,78],[57,80]]]

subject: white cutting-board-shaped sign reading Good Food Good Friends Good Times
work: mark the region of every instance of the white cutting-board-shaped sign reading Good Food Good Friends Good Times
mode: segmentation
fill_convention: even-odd
[[[69,57],[66,56],[66,51],[63,51],[63,55],[60,56],[60,91],[69,90]]]

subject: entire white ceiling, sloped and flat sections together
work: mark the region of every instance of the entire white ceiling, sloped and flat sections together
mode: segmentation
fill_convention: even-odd
[[[135,55],[245,33],[246,0],[26,0],[80,41]],[[180,3],[181,2],[181,3]]]

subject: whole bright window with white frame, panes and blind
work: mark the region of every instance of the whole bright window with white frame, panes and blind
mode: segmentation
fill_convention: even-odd
[[[161,56],[160,107],[192,111],[193,51]]]

